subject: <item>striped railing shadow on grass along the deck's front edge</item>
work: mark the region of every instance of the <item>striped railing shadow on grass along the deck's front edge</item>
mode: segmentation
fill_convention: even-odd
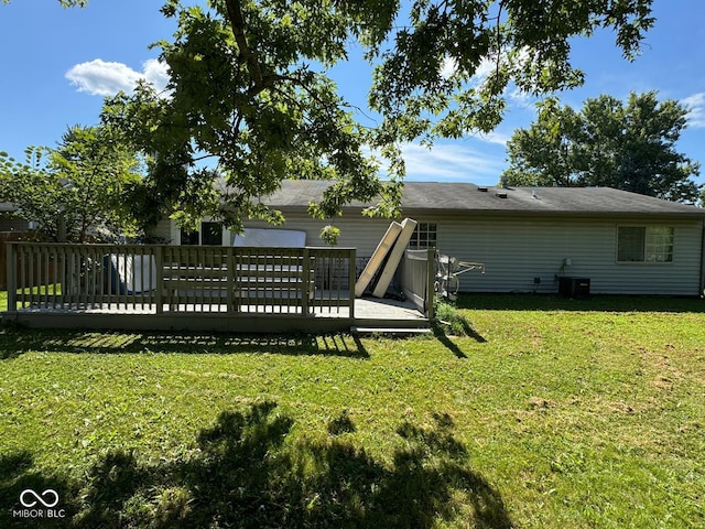
[[[232,335],[218,333],[130,333],[6,328],[0,330],[0,359],[29,350],[98,354],[276,354],[369,358],[349,335]]]

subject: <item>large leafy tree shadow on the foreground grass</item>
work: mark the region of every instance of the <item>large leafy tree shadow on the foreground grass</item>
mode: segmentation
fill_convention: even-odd
[[[348,421],[344,432],[354,430]],[[66,527],[74,528],[512,527],[499,494],[470,469],[448,415],[437,414],[431,427],[402,423],[402,447],[390,464],[336,435],[292,441],[292,427],[264,402],[221,413],[189,457],[149,464],[116,451],[80,486],[50,478],[36,486],[62,490]],[[17,503],[35,482],[26,454],[10,457],[25,464],[1,482],[0,497]],[[8,512],[0,510],[1,527],[11,527]]]

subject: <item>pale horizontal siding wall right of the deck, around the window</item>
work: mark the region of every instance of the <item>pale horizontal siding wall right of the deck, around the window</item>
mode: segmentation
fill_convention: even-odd
[[[589,279],[595,294],[702,293],[702,220],[419,220],[437,223],[442,253],[486,264],[484,274],[473,271],[460,276],[463,292],[557,292],[556,277],[566,276]],[[628,225],[674,227],[673,262],[617,263],[617,227]],[[571,266],[564,266],[565,259]]]

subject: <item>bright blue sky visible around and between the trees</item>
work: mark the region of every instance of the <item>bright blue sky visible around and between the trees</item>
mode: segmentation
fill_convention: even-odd
[[[54,147],[72,125],[95,125],[102,97],[129,90],[139,77],[156,84],[158,40],[170,40],[174,22],[159,12],[162,0],[90,0],[85,9],[62,9],[56,0],[12,0],[0,6],[0,151],[23,158],[28,145]],[[585,86],[560,95],[581,108],[599,94],[626,99],[630,91],[658,90],[691,108],[681,152],[705,165],[705,2],[655,0],[657,24],[643,53],[629,63],[601,32],[573,45]],[[351,50],[351,56],[358,50]],[[344,95],[365,106],[370,69],[360,63],[337,66]],[[534,100],[510,97],[505,121],[487,137],[438,141],[433,151],[404,145],[408,180],[496,184],[506,168],[505,142],[535,118]],[[370,119],[360,116],[361,120]],[[696,179],[705,183],[704,175]]]

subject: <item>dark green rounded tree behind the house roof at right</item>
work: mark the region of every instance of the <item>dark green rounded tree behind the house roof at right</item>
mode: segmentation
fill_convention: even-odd
[[[687,109],[659,101],[654,91],[587,99],[581,111],[547,99],[536,121],[519,129],[507,144],[510,185],[609,186],[695,203],[701,188],[691,180],[699,164],[675,143]]]

